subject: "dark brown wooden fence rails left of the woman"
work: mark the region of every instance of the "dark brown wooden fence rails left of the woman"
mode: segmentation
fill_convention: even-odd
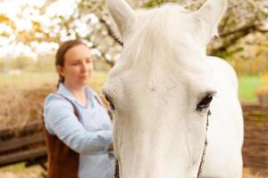
[[[46,145],[40,122],[0,129],[0,166],[46,162]]]

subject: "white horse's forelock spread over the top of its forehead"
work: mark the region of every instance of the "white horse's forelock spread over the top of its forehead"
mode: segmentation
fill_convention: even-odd
[[[131,61],[169,59],[186,45],[194,47],[194,23],[187,10],[164,4],[136,13],[136,20],[126,39],[123,55]],[[123,60],[126,60],[125,57]],[[148,62],[147,63],[151,63]]]

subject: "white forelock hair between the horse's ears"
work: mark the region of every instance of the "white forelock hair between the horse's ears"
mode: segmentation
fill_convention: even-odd
[[[173,46],[174,39],[178,36],[187,41],[191,40],[190,36],[185,33],[191,28],[189,27],[191,23],[180,21],[184,19],[183,16],[186,16],[182,10],[179,5],[165,4],[152,11],[138,11],[137,18],[131,27],[135,28],[135,31],[130,31],[128,44],[132,45],[132,49],[137,50],[135,53],[146,54],[151,53],[155,48],[161,52],[173,49],[176,47]],[[174,17],[177,21],[174,21]]]

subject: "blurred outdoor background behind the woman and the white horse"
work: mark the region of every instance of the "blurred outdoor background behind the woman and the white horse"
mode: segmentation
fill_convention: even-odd
[[[128,0],[134,8],[178,3],[190,11],[205,0]],[[0,0],[0,178],[46,177],[42,106],[58,76],[59,44],[81,38],[92,49],[97,92],[120,57],[104,0]],[[219,36],[207,53],[239,76],[245,117],[244,177],[268,177],[268,1],[229,0]]]

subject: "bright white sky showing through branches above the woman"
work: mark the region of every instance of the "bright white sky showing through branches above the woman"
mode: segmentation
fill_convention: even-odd
[[[52,21],[50,17],[56,15],[63,15],[63,17],[70,17],[75,8],[77,7],[77,1],[79,0],[57,0],[54,3],[50,4],[46,8],[44,15],[38,15],[37,7],[42,7],[46,3],[46,0],[0,0],[0,14],[5,14],[10,19],[13,20],[17,29],[29,30],[32,28],[31,20],[41,21],[44,27],[49,27],[51,23],[58,23],[58,20]],[[22,7],[27,6],[26,10],[22,10]],[[17,13],[21,12],[21,18],[18,17]],[[97,22],[97,18],[94,14],[88,14],[85,16],[84,20],[89,18],[93,19],[93,22]],[[80,33],[80,36],[87,36],[90,28],[88,28],[86,23],[83,21],[77,20],[76,25],[79,27],[77,31]],[[49,30],[48,28],[44,30]],[[2,33],[12,34],[9,38],[1,36]],[[63,31],[54,31],[54,33],[64,33]],[[38,35],[38,34],[37,34]],[[37,58],[37,53],[49,53],[54,51],[58,44],[55,43],[37,43],[32,42],[30,46],[36,49],[32,50],[31,47],[25,44],[14,44],[13,40],[15,39],[15,34],[13,34],[13,29],[9,26],[6,26],[0,21],[0,57],[4,56],[18,56],[18,55],[27,55],[32,58]],[[62,41],[67,40],[68,36],[63,36]]]

